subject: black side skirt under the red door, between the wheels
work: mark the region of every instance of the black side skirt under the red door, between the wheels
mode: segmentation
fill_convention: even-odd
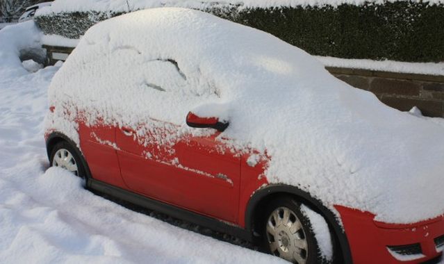
[[[138,195],[134,192],[104,183],[103,181],[97,181],[90,178],[88,179],[87,185],[88,188],[92,190],[97,190],[98,192],[102,192],[106,195],[128,201],[131,204],[158,211],[160,213],[164,213],[165,215],[170,215],[187,222],[198,224],[199,226],[205,226],[209,229],[213,229],[214,231],[228,233],[231,236],[236,236],[249,242],[253,241],[252,233],[246,229],[242,229],[239,226],[233,226],[212,217],[199,215],[186,209],[172,206],[171,204],[165,204],[162,201],[157,201],[142,195]]]

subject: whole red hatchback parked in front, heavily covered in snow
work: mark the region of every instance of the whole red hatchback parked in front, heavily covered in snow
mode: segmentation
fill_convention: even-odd
[[[108,19],[49,104],[50,164],[88,188],[294,263],[441,257],[443,128],[268,33],[181,8]]]

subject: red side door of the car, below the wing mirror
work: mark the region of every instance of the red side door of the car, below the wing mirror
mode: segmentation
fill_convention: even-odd
[[[147,197],[236,222],[240,158],[216,140],[213,129],[209,136],[178,137],[179,129],[167,122],[137,131],[117,129],[117,156],[126,185]]]

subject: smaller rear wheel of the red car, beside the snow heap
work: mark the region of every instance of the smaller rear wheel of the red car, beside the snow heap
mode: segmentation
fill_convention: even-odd
[[[88,179],[86,162],[80,150],[66,141],[60,141],[54,145],[49,158],[51,167],[61,167],[72,174]]]

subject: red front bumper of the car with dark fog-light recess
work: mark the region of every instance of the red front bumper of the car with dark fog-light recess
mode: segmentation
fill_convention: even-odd
[[[344,206],[335,208],[354,263],[433,263],[443,254],[443,216],[415,224],[386,224],[375,222],[372,213]]]

